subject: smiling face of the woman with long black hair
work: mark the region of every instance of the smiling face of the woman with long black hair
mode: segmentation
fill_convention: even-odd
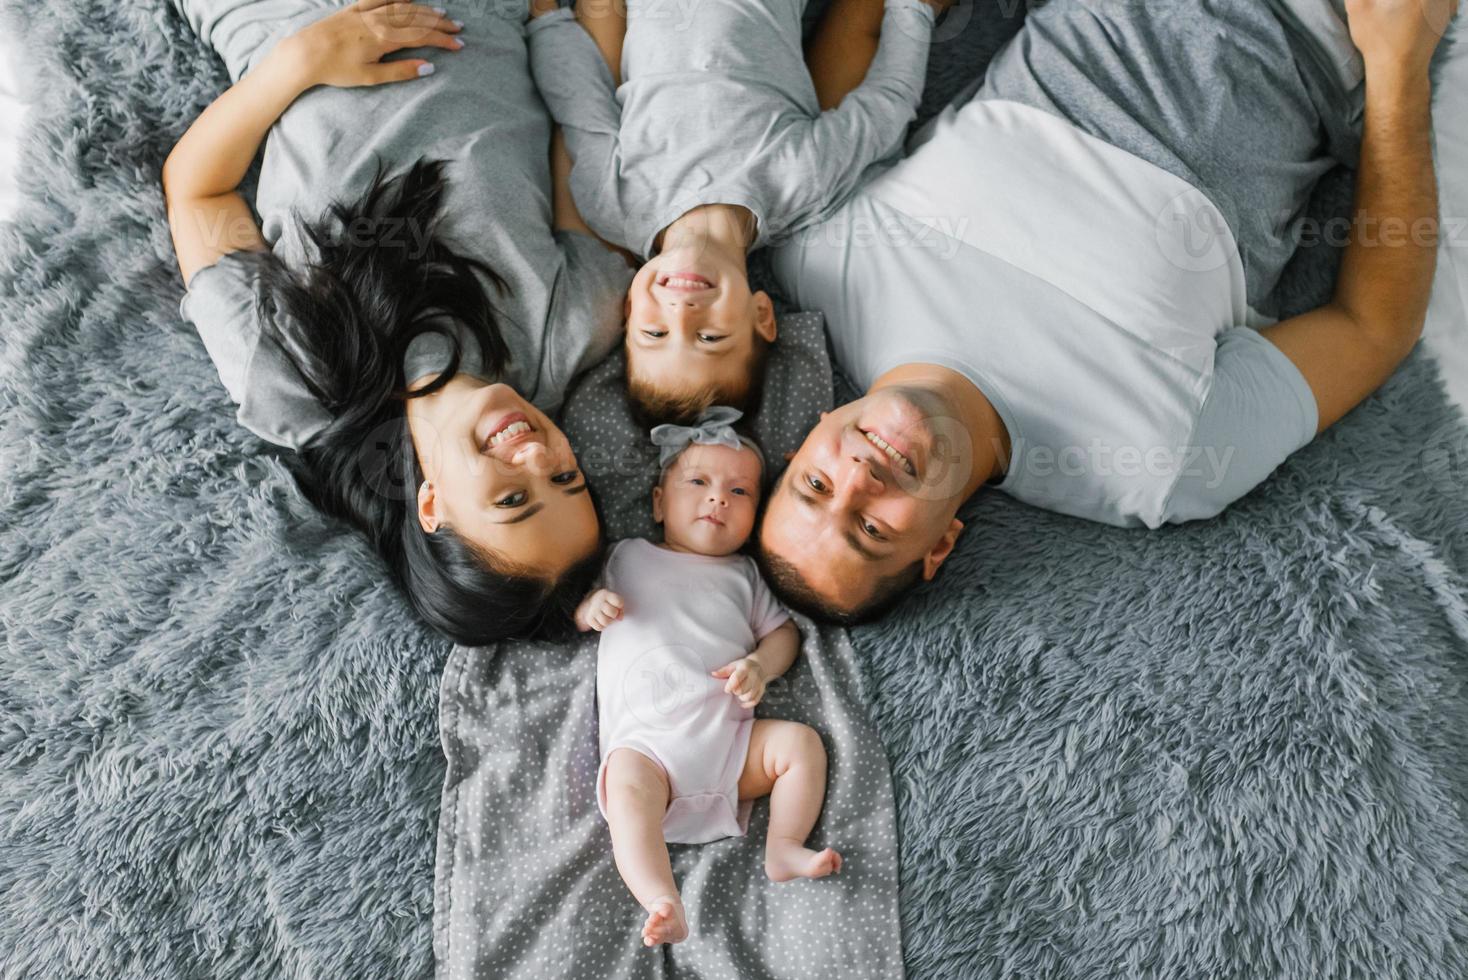
[[[424,531],[446,524],[537,578],[596,550],[600,527],[571,443],[515,389],[457,374],[407,405],[427,484],[418,487]]]

